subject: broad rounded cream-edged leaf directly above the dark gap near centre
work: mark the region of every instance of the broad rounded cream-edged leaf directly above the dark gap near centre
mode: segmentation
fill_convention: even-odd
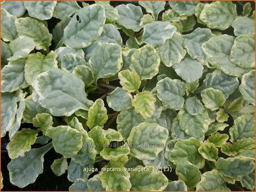
[[[122,68],[121,47],[113,43],[100,43],[93,49],[89,64],[95,81],[114,76]]]

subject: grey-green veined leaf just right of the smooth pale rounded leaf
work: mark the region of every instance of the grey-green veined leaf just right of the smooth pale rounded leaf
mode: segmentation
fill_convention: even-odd
[[[196,91],[196,93],[200,93],[204,89],[212,87],[213,89],[220,90],[227,99],[230,94],[234,93],[238,85],[239,81],[237,77],[228,76],[221,70],[216,69],[214,72],[208,73],[205,76],[203,85]]]

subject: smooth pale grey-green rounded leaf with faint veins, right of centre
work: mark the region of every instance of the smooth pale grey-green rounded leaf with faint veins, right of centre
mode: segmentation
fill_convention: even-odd
[[[197,60],[190,57],[185,57],[179,64],[172,66],[178,76],[186,82],[194,82],[198,80],[203,74],[203,65]]]

